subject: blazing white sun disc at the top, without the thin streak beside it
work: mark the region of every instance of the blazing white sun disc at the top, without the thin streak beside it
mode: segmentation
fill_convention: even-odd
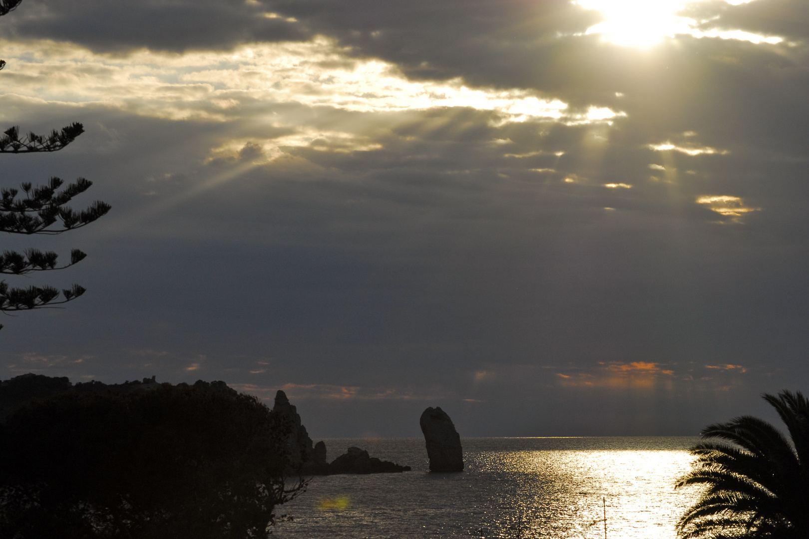
[[[578,0],[588,10],[599,11],[604,21],[587,29],[588,34],[601,34],[610,43],[646,48],[658,44],[666,36],[691,33],[692,19],[677,16],[683,0]]]

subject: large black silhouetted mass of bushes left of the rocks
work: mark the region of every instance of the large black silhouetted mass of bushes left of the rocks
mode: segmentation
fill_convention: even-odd
[[[289,435],[221,382],[29,402],[0,424],[0,537],[266,537],[306,487]]]

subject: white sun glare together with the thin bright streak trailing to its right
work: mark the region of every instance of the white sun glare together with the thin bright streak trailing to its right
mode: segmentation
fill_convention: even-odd
[[[697,26],[703,21],[678,15],[685,6],[707,0],[576,0],[574,3],[588,10],[599,11],[604,21],[587,28],[587,34],[600,34],[604,40],[627,47],[650,47],[664,37],[690,35],[694,37],[719,37],[726,40],[743,40],[755,44],[777,44],[779,36],[760,36],[740,30],[702,31]],[[739,5],[752,0],[726,0]]]

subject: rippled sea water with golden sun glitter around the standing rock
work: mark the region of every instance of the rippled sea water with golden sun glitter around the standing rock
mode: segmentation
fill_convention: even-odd
[[[273,537],[674,539],[699,491],[674,488],[693,437],[462,438],[465,469],[430,474],[424,440],[325,440],[410,465],[318,477],[282,507]],[[606,512],[606,530],[604,513]]]

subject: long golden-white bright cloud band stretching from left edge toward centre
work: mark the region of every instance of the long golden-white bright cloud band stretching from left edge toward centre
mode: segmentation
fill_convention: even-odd
[[[72,44],[4,41],[4,91],[45,100],[106,103],[142,116],[172,120],[233,120],[246,103],[298,103],[350,112],[401,112],[472,107],[496,113],[495,123],[553,121],[611,124],[622,112],[572,110],[523,89],[471,88],[460,78],[409,81],[395,65],[348,57],[325,38],[250,44],[229,53],[94,54]],[[251,116],[256,114],[252,107]]]

